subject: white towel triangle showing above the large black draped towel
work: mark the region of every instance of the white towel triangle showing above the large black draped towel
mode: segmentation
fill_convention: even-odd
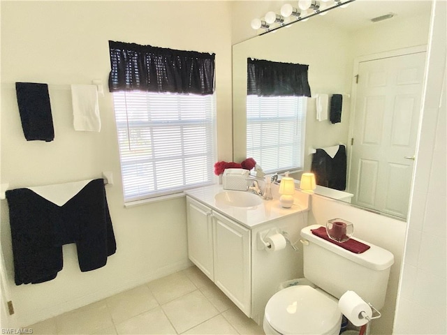
[[[74,181],[73,183],[55,184],[47,186],[27,187],[29,190],[41,195],[42,198],[62,207],[68,200],[85,188],[92,179]]]

